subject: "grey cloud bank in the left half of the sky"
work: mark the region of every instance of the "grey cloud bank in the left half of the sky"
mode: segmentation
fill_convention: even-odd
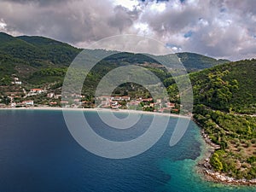
[[[0,3],[1,8],[6,8],[0,9],[0,18],[6,21],[7,32],[44,35],[71,44],[119,34],[126,26],[131,26],[132,18],[136,17],[120,6],[113,7],[108,0],[66,1],[57,8],[50,2],[45,2],[44,6],[41,1],[15,2],[19,3]]]

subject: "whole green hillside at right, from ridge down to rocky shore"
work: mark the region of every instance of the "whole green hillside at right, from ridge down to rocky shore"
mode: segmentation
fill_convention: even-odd
[[[191,73],[195,121],[217,144],[210,159],[217,172],[256,178],[256,60]]]

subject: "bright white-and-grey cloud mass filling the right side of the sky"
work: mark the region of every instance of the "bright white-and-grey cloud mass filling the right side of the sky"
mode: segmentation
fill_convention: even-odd
[[[256,15],[250,6],[256,2],[237,1],[238,7],[232,2],[174,0],[166,3],[161,12],[151,11],[155,4],[150,2],[141,20],[155,32],[155,38],[179,47],[178,51],[230,60],[255,57]]]

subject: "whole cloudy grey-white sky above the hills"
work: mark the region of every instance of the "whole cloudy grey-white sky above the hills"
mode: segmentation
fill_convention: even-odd
[[[137,34],[174,52],[256,58],[256,0],[1,0],[0,31],[86,48]]]

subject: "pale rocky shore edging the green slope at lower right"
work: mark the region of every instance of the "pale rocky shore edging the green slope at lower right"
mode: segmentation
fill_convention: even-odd
[[[210,158],[214,151],[220,148],[217,144],[212,143],[211,139],[207,136],[205,131],[201,130],[201,136],[207,145],[206,151],[204,152],[204,157],[198,162],[198,171],[204,175],[207,181],[212,181],[215,183],[233,184],[233,185],[256,185],[256,178],[252,180],[247,179],[236,179],[233,177],[228,177],[224,173],[215,172],[210,165]]]

